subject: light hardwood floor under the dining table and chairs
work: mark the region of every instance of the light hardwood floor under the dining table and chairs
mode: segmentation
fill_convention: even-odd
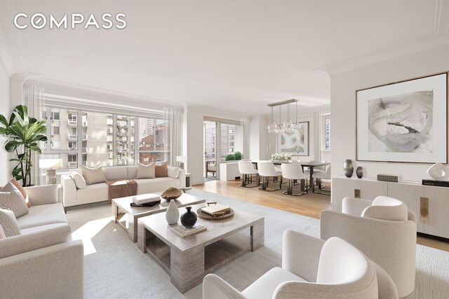
[[[208,181],[202,185],[195,185],[193,188],[316,219],[320,218],[321,211],[328,209],[330,204],[329,195],[315,194],[311,190],[303,196],[283,195],[282,190],[286,190],[287,184],[283,184],[282,190],[273,192],[262,191],[257,187],[243,188],[239,185],[240,181]],[[300,186],[295,188],[299,189]],[[417,244],[449,251],[449,243],[427,237],[417,237]]]

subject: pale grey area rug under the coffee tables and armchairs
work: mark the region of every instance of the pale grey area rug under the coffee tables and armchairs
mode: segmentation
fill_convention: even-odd
[[[224,265],[215,274],[243,290],[264,272],[281,265],[282,233],[297,230],[319,237],[319,220],[192,189],[188,193],[265,217],[265,246]],[[74,238],[83,238],[85,298],[201,298],[202,285],[181,294],[170,276],[138,250],[112,221],[110,204],[69,210]],[[449,298],[449,252],[417,245],[415,291],[406,298]]]

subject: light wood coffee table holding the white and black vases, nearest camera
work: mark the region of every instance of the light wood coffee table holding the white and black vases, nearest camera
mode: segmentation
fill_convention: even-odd
[[[205,204],[193,207],[196,211]],[[180,209],[180,214],[185,209]],[[247,251],[264,246],[264,217],[234,209],[234,216],[220,221],[198,218],[207,230],[178,237],[170,230],[165,213],[138,219],[138,248],[148,252],[170,274],[174,286],[185,293],[203,277]],[[180,223],[178,223],[180,225]]]

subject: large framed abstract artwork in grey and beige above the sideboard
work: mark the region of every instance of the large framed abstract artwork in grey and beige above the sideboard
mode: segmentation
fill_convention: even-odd
[[[356,159],[448,162],[448,73],[356,91]]]

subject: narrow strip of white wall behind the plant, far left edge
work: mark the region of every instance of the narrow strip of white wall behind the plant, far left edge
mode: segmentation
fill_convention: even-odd
[[[4,115],[6,119],[11,113],[9,102],[9,76],[0,63],[0,114]],[[0,186],[4,186],[11,179],[11,172],[9,170],[8,153],[4,147],[4,137],[0,137]],[[6,166],[6,167],[5,167]]]

